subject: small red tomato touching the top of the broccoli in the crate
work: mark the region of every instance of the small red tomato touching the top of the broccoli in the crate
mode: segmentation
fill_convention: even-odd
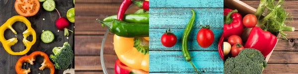
[[[244,49],[244,47],[240,43],[234,44],[231,48],[232,57],[236,57],[242,49]]]

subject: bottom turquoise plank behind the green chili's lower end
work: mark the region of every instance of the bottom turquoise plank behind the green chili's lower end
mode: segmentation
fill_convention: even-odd
[[[149,51],[149,72],[195,72],[181,51]],[[190,51],[199,72],[224,72],[218,51]]]

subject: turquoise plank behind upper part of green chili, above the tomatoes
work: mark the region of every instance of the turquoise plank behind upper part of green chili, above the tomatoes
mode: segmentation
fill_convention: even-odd
[[[211,28],[224,27],[223,8],[194,8],[194,11],[196,18],[193,28],[199,28],[200,25],[211,25]],[[151,8],[149,28],[184,29],[191,16],[191,8]]]

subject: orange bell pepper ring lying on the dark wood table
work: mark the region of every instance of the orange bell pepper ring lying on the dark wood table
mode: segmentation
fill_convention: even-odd
[[[22,69],[22,64],[27,62],[30,63],[30,65],[33,65],[33,61],[35,61],[35,58],[37,56],[42,56],[43,57],[43,62],[41,64],[41,67],[39,68],[39,70],[43,70],[45,68],[49,68],[51,70],[51,74],[55,73],[55,68],[53,63],[50,61],[48,55],[44,52],[41,51],[34,51],[32,52],[30,55],[26,55],[26,56],[22,56],[21,58],[19,58],[15,64],[15,71],[17,74],[28,74],[30,73],[30,68],[28,68],[28,70],[26,69]]]

